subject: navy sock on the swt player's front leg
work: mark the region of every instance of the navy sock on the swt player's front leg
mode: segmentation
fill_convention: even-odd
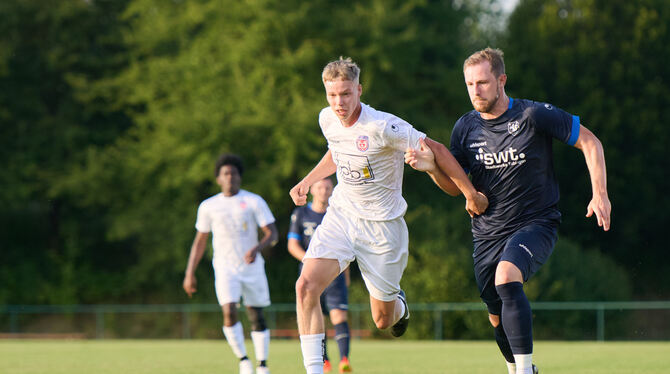
[[[533,353],[533,317],[530,303],[523,292],[523,284],[520,282],[505,283],[496,286],[496,290],[503,302],[501,325],[512,352],[517,355]],[[497,331],[496,340],[498,340]],[[505,352],[503,355],[507,359]]]

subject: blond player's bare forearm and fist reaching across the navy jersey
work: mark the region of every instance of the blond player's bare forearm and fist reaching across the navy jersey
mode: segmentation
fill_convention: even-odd
[[[449,176],[452,182],[465,196],[465,210],[468,214],[472,217],[484,213],[489,206],[489,200],[484,194],[475,189],[472,182],[470,182],[470,179],[468,179],[468,176],[465,175],[463,168],[458,161],[456,161],[451,152],[449,152],[447,147],[428,137],[425,139],[425,145],[433,151],[433,154],[435,154],[435,163],[439,169]]]

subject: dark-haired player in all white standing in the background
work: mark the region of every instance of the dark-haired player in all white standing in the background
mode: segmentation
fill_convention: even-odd
[[[270,331],[265,325],[263,307],[270,305],[270,292],[261,251],[277,242],[277,229],[265,200],[240,189],[243,171],[242,159],[236,155],[223,154],[217,160],[215,175],[221,193],[206,199],[198,208],[197,232],[183,287],[189,297],[196,292],[195,269],[207,248],[209,233],[213,233],[214,286],[223,311],[223,333],[240,359],[240,374],[253,374],[254,367],[244,346],[244,331],[237,317],[242,298],[251,322],[251,340],[258,362],[256,373],[269,374]],[[260,241],[258,228],[263,233]]]

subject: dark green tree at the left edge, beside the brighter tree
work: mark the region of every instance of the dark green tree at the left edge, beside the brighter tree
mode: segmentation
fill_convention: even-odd
[[[124,66],[125,1],[0,3],[0,304],[102,299],[122,280],[122,243],[100,209],[52,187],[130,120],[87,97],[87,80]],[[108,272],[110,268],[113,271]],[[95,287],[91,285],[95,284]]]

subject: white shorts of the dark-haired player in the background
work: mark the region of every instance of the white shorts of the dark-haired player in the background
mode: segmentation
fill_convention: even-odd
[[[245,306],[263,308],[270,305],[270,288],[264,267],[245,271],[214,265],[214,288],[219,305],[239,303]]]

